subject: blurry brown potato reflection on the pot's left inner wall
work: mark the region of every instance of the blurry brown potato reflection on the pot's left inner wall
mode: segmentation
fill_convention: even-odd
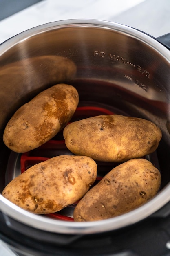
[[[75,63],[69,58],[56,55],[25,57],[0,67],[1,127],[26,101],[57,83],[71,83],[77,72]],[[8,61],[12,61],[11,58]]]

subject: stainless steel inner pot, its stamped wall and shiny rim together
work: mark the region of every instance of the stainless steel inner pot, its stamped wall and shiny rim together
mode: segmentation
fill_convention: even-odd
[[[51,62],[41,61],[40,56],[46,55],[71,59],[77,73],[72,79],[65,76],[55,81]],[[56,67],[55,78],[59,70]],[[91,234],[126,227],[163,209],[170,201],[170,51],[141,31],[97,20],[41,25],[0,45],[0,192],[5,186],[10,154],[2,141],[5,124],[23,103],[56,82],[77,88],[79,106],[98,106],[142,117],[161,128],[163,138],[157,149],[161,189],[155,198],[129,213],[84,223],[34,215],[0,194],[0,211],[6,222],[10,218],[10,223],[12,219],[54,233]]]

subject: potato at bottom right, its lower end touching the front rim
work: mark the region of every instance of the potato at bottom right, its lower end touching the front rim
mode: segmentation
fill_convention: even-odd
[[[157,168],[146,159],[131,159],[113,168],[89,190],[74,210],[79,222],[127,213],[153,198],[161,183]]]

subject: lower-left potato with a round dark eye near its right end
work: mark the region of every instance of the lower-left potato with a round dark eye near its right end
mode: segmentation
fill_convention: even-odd
[[[15,177],[2,195],[33,213],[53,213],[82,198],[96,177],[97,164],[93,159],[60,155]]]

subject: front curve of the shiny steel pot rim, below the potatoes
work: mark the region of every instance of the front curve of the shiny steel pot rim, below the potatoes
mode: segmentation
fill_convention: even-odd
[[[169,196],[167,196],[169,195]],[[120,216],[89,222],[61,221],[39,216],[13,204],[0,194],[0,210],[23,224],[47,232],[60,234],[96,234],[113,231],[144,220],[170,201],[170,185],[166,186],[146,204]],[[10,223],[9,223],[10,224]]]

